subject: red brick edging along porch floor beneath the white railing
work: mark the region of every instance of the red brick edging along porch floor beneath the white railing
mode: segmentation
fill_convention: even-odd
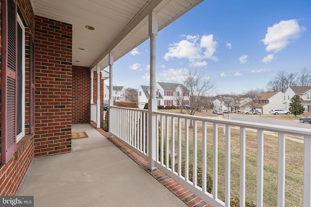
[[[94,125],[92,125],[96,128]],[[162,171],[156,169],[151,171],[148,169],[148,161],[143,159],[138,154],[136,154],[133,150],[123,145],[117,139],[109,139],[109,132],[104,131],[101,128],[96,128],[98,132],[100,132],[106,139],[108,139],[111,143],[116,145],[122,152],[124,152],[128,157],[133,159],[138,165],[140,165],[146,172],[155,177],[157,181],[159,181],[163,186],[173,192],[180,200],[185,202],[189,207],[211,207],[201,198],[196,196],[194,193],[186,189],[184,186],[176,182],[173,178],[166,175]]]

